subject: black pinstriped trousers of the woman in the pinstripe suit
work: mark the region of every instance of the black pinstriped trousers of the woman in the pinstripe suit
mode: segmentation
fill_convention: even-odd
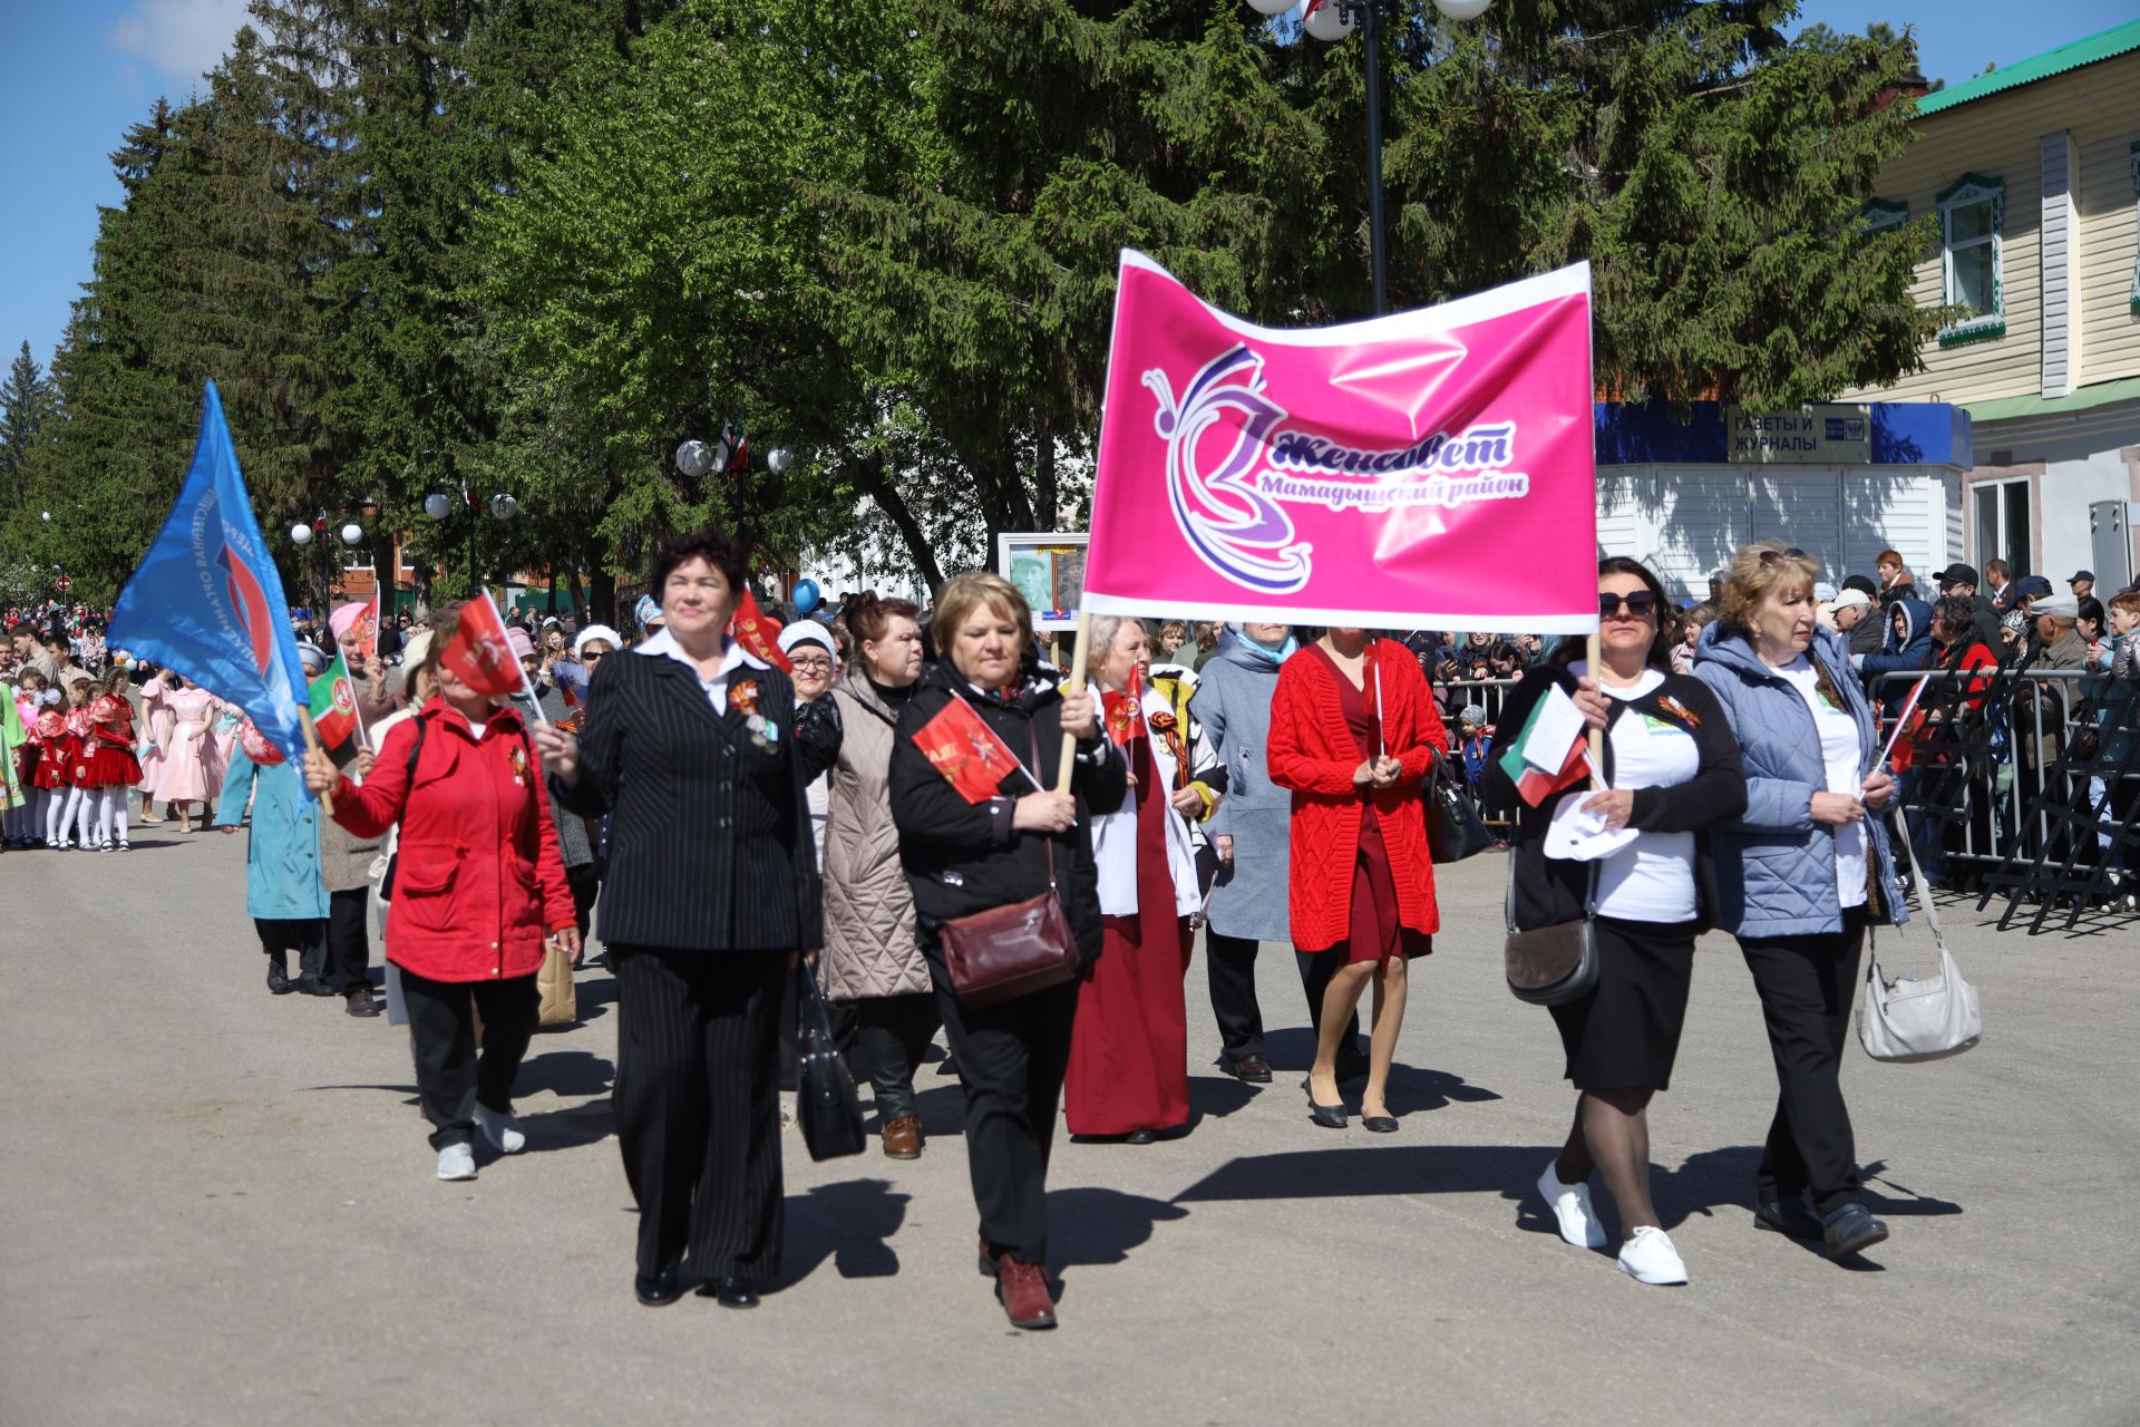
[[[781,1271],[775,1040],[788,958],[610,946],[616,1142],[648,1277],[685,1252],[704,1279]]]

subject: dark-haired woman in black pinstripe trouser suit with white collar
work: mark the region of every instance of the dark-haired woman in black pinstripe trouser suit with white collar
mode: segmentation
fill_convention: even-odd
[[[633,1290],[753,1307],[781,1267],[779,1010],[822,943],[805,785],[839,755],[830,700],[730,635],[745,548],[668,541],[666,629],[603,659],[580,738],[535,732],[552,792],[610,813],[599,933],[616,971],[616,1140],[640,1204]]]

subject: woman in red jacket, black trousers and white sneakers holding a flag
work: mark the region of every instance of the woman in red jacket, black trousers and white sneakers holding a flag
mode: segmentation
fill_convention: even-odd
[[[477,1127],[499,1153],[526,1147],[514,1076],[535,1033],[546,931],[580,961],[580,918],[535,783],[541,762],[520,715],[441,661],[458,627],[454,610],[432,616],[417,674],[439,693],[387,734],[364,783],[319,751],[304,764],[306,785],[332,792],[334,822],[357,837],[400,824],[385,943],[409,1003],[439,1179],[475,1179]],[[484,1016],[482,1059],[473,1012]]]

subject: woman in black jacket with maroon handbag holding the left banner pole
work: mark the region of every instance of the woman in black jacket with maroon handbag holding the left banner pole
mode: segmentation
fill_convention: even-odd
[[[1100,736],[1094,697],[1064,695],[1053,670],[1027,663],[1031,625],[1025,597],[1002,576],[967,573],[942,588],[929,623],[942,657],[922,670],[892,745],[892,819],[922,954],[965,1083],[980,1271],[995,1277],[1012,1324],[1053,1329],[1046,1170],[1079,982],[965,1006],[942,946],[944,922],[1040,896],[1053,884],[1085,961],[1100,954],[1091,817],[1121,807],[1126,766]],[[999,779],[967,777],[972,798],[918,742],[954,700],[980,715],[1021,764]],[[1072,794],[1040,785],[1053,781],[1064,738],[1076,740]]]

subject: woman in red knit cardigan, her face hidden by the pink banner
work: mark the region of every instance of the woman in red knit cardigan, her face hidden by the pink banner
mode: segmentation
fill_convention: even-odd
[[[1404,1025],[1404,963],[1434,950],[1434,866],[1419,783],[1449,736],[1419,661],[1395,640],[1331,629],[1278,674],[1271,781],[1293,789],[1293,943],[1342,963],[1323,993],[1310,1117],[1344,1130],[1338,1050],[1374,982],[1361,1125],[1391,1132],[1382,1100]]]

